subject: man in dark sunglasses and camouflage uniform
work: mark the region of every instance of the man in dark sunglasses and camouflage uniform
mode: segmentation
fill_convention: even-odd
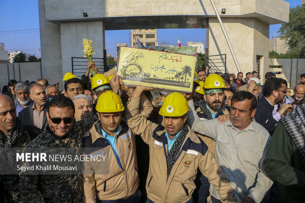
[[[62,95],[55,96],[48,105],[49,125],[26,148],[82,147],[82,138],[96,116],[74,121],[74,104]],[[20,174],[21,199],[27,203],[82,202],[82,183],[79,175],[24,175]]]

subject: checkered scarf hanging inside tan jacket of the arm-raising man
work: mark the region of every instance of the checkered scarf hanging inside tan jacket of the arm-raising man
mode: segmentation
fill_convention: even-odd
[[[187,128],[187,125],[184,124],[180,135],[178,136],[178,138],[174,142],[171,150],[167,154],[167,160],[166,160],[166,164],[167,164],[167,176],[166,176],[166,181],[167,181],[168,176],[171,173],[171,170],[172,170],[172,168],[173,168],[173,166],[175,164],[175,159],[176,159],[177,155],[180,152],[180,148],[181,148],[181,146],[182,146],[182,144],[183,144],[183,142],[184,142],[184,140],[186,138],[187,133],[188,133],[188,128]]]

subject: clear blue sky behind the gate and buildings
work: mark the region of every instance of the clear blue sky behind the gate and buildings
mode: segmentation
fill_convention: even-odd
[[[301,4],[301,0],[286,0],[290,7]],[[5,43],[5,50],[24,51],[39,57],[40,48],[38,0],[0,0],[0,42]],[[274,31],[280,28],[280,24],[271,25],[269,38],[272,39]],[[27,29],[27,30],[25,30]],[[24,30],[24,31],[14,31]],[[5,32],[9,31],[9,32]],[[115,56],[117,43],[129,42],[129,30],[107,30],[105,41],[107,54]],[[157,41],[166,42],[168,45],[177,45],[178,37],[182,46],[187,41],[203,42],[206,45],[206,29],[158,29]]]

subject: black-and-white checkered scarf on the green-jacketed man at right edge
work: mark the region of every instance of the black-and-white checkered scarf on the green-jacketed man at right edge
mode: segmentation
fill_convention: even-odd
[[[280,121],[305,159],[305,104],[290,112]]]

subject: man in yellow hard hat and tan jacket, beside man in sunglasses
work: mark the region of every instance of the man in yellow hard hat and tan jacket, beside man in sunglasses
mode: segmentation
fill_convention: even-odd
[[[109,165],[85,163],[84,202],[139,203],[135,134],[121,120],[124,106],[120,96],[112,91],[102,93],[96,111],[99,119],[84,138],[84,147],[90,149],[86,154],[106,154]],[[103,168],[109,172],[101,173]]]

